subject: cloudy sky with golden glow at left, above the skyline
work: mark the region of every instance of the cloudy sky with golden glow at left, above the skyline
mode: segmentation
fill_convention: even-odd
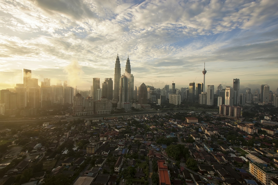
[[[2,0],[0,89],[32,77],[68,80],[89,90],[92,78],[122,74],[129,55],[134,85],[278,88],[275,0]],[[39,83],[40,85],[40,83]]]

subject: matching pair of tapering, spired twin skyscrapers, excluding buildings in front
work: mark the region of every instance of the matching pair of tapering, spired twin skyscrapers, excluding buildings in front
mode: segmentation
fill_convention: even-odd
[[[127,64],[125,65],[125,71],[126,73],[131,74],[129,56],[127,56]],[[115,77],[114,77],[114,99],[117,100],[119,100],[119,95],[120,95],[120,79],[121,79],[121,64],[120,64],[119,55],[117,55],[116,64],[115,64]]]

